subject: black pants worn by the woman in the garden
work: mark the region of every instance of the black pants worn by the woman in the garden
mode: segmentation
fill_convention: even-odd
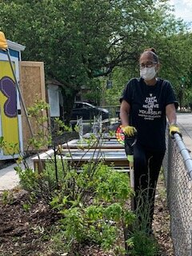
[[[151,230],[154,197],[165,150],[150,151],[134,145],[134,209],[140,225]]]

